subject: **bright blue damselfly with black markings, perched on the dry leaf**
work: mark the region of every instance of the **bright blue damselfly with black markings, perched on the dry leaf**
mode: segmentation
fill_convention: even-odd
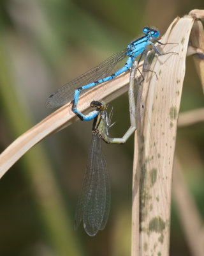
[[[157,29],[152,28],[143,28],[142,30],[143,36],[131,42],[126,49],[117,54],[113,54],[110,58],[103,61],[100,65],[95,68],[92,68],[88,72],[85,72],[82,76],[77,77],[73,81],[65,84],[61,88],[59,88],[55,93],[52,93],[50,97],[48,97],[46,106],[47,108],[55,108],[58,106],[62,106],[72,100],[73,106],[72,111],[75,113],[81,120],[91,120],[96,115],[93,113],[92,115],[85,116],[77,109],[78,97],[82,95],[85,91],[89,90],[93,86],[96,86],[101,83],[105,83],[106,81],[110,81],[120,74],[128,71],[137,56],[140,56],[138,63],[142,59],[144,54],[144,62],[143,62],[143,70],[145,70],[145,61],[147,60],[147,52],[149,51],[148,46],[152,45],[154,51],[161,56],[164,54],[170,54],[175,52],[165,52],[161,53],[156,48],[153,42],[157,42],[161,45],[165,45],[155,38],[159,37],[159,31]],[[153,41],[153,42],[152,42]],[[173,43],[170,43],[173,44]],[[114,72],[116,65],[120,63],[120,61],[127,58],[126,64]],[[120,66],[121,67],[121,66]],[[145,70],[147,71],[147,70]],[[153,71],[154,72],[154,71]],[[99,97],[97,97],[99,99]],[[94,111],[93,111],[94,112]]]

